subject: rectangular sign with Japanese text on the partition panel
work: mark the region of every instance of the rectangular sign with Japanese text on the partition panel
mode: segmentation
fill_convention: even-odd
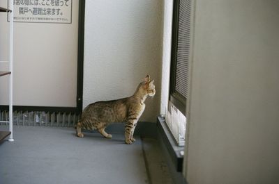
[[[72,23],[72,0],[13,0],[13,2],[14,22]]]

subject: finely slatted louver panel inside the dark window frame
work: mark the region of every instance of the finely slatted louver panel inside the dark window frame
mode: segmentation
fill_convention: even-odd
[[[190,0],[179,3],[179,37],[177,44],[175,90],[184,98],[188,97],[188,71],[190,55]]]

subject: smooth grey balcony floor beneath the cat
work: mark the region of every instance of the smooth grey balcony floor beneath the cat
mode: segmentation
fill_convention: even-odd
[[[15,142],[0,143],[0,183],[172,183],[158,142],[136,138],[127,145],[123,134],[79,138],[74,128],[14,126]]]

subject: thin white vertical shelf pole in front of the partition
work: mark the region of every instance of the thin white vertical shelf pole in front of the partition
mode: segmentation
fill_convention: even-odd
[[[10,0],[10,98],[9,98],[9,141],[13,142],[13,0]]]

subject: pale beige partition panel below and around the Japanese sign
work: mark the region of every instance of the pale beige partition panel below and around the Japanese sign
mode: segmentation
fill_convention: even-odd
[[[0,5],[6,7],[7,1]],[[78,3],[72,24],[14,24],[14,105],[76,106]],[[8,60],[8,23],[0,15],[0,60]],[[0,70],[7,64],[0,64]],[[8,77],[0,78],[0,104],[8,104]]]

